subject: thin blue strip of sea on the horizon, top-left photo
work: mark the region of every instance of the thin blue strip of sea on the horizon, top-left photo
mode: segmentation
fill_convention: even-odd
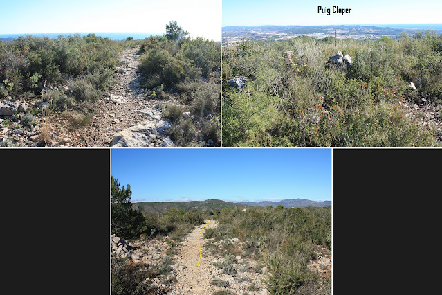
[[[35,37],[49,37],[53,39],[57,39],[59,35],[63,35],[65,37],[69,35],[74,35],[75,33],[34,33],[34,34],[0,34],[1,38],[17,38],[20,36],[25,35],[33,35]],[[86,36],[90,33],[77,33],[81,36]],[[125,40],[127,37],[133,37],[133,39],[145,39],[150,36],[160,36],[163,35],[163,33],[95,33],[96,36],[103,37],[103,38],[109,38],[112,40]]]

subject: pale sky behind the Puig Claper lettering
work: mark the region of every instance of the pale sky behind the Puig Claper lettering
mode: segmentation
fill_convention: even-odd
[[[334,25],[333,16],[317,15],[317,6],[351,8],[350,16],[336,17],[336,25],[442,23],[441,0],[223,0],[223,26]]]

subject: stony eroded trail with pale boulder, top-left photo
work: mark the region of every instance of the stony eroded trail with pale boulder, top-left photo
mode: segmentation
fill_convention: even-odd
[[[122,51],[116,76],[102,99],[93,102],[95,116],[87,127],[70,132],[72,146],[158,147],[174,146],[164,131],[170,123],[162,118],[163,103],[147,98],[140,86],[137,48]]]

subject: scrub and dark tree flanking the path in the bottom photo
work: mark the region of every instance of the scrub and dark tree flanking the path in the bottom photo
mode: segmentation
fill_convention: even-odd
[[[270,294],[331,294],[331,273],[320,275],[309,268],[309,262],[315,260],[317,253],[325,251],[331,255],[331,207],[287,209],[279,205],[277,208],[224,208],[204,212],[171,209],[166,213],[147,214],[124,205],[128,200],[130,202],[130,186],[120,188],[118,179],[112,181],[113,233],[124,233],[122,236],[129,239],[139,237],[146,240],[167,236],[170,249],[166,254],[172,256],[184,235],[190,233],[194,226],[203,224],[205,219],[213,219],[219,226],[205,229],[203,238],[208,240],[204,247],[213,256],[222,257],[214,262],[222,274],[249,271],[263,274],[262,269],[266,267],[265,285]],[[118,199],[126,202],[119,204]],[[124,206],[127,213],[114,215],[114,208],[119,206]],[[122,216],[127,219],[121,223]],[[232,239],[237,242],[232,242]],[[238,255],[243,258],[241,263],[236,258]],[[248,259],[256,260],[257,265],[251,267]],[[112,263],[114,283],[128,280],[137,285],[136,282],[140,283],[143,276],[161,274],[161,267],[158,267],[158,274],[147,274],[146,269],[138,266],[140,269],[136,271],[125,260],[113,260]],[[167,263],[164,265],[163,269],[167,269]],[[247,280],[246,276],[242,278]],[[225,287],[225,284],[222,280],[212,281],[212,285],[219,287]],[[255,285],[250,285],[250,291],[253,290]]]

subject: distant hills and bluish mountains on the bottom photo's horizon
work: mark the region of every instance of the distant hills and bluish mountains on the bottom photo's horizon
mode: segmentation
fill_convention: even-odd
[[[300,207],[329,207],[331,201],[311,201],[309,199],[283,199],[279,202],[262,201],[262,202],[225,202],[219,199],[207,199],[205,201],[188,201],[188,202],[138,202],[132,203],[133,208],[140,207],[145,213],[165,213],[169,209],[183,209],[184,211],[212,211],[223,208],[246,208],[248,206],[276,206],[282,205],[284,208],[300,208]]]

